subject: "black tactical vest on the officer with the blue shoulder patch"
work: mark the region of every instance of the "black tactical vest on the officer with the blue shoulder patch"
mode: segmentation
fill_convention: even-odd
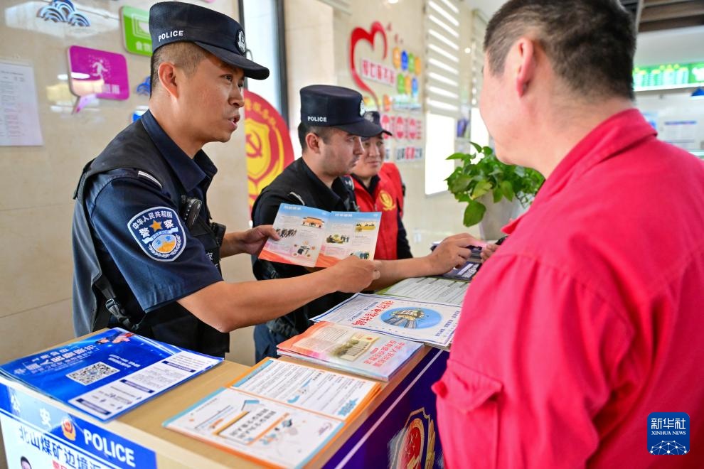
[[[181,182],[140,121],[120,132],[100,156],[87,163],[73,195],[76,200],[73,213],[73,326],[76,335],[105,328],[110,323],[178,347],[223,357],[230,348],[230,335],[203,323],[176,301],[145,314],[143,311],[125,311],[119,298],[115,297],[110,279],[103,274],[96,254],[84,190],[92,176],[118,168],[133,168],[147,173],[146,178],[151,176],[158,181],[161,190],[169,194],[182,217],[185,206],[189,203]],[[151,178],[149,179],[152,180]],[[186,220],[183,225],[187,225]],[[203,243],[208,257],[220,270],[220,243],[224,230],[218,233],[218,239],[213,225],[203,220],[203,217],[196,217],[188,230]]]

